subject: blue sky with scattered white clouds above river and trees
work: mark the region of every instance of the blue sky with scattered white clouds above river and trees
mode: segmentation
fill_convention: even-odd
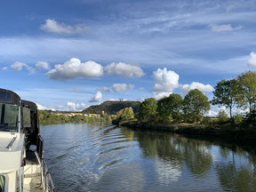
[[[212,100],[256,68],[255,0],[9,0],[0,18],[1,88],[40,109],[196,88]]]

